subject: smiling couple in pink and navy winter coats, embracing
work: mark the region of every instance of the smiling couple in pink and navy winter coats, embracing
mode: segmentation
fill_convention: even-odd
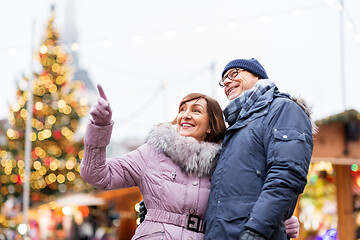
[[[171,123],[116,158],[106,158],[112,110],[98,86],[81,176],[98,189],[139,187],[147,213],[132,239],[298,236],[291,216],[313,149],[309,110],[280,92],[254,58],[230,61],[221,77],[230,100],[223,111],[209,96],[189,94]]]

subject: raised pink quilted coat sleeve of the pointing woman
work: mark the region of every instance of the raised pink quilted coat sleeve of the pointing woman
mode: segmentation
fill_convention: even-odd
[[[144,169],[148,151],[143,145],[117,158],[106,158],[106,146],[110,142],[113,123],[97,126],[90,123],[84,138],[84,158],[80,175],[98,189],[118,189],[138,186]]]

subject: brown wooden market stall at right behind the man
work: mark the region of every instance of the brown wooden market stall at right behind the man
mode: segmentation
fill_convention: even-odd
[[[357,239],[356,229],[359,226],[356,226],[354,214],[354,176],[359,172],[360,165],[360,114],[355,110],[345,111],[317,121],[317,125],[319,128],[314,135],[311,163],[331,163],[335,176],[337,239]],[[325,189],[324,185],[322,187]],[[316,201],[320,200],[315,199]],[[299,211],[301,212],[301,209]],[[303,238],[300,236],[299,239]]]

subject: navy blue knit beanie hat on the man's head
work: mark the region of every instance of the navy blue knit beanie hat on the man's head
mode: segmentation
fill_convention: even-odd
[[[236,59],[229,62],[225,68],[224,71],[221,74],[221,77],[224,77],[224,74],[229,70],[230,68],[241,68],[248,72],[251,72],[252,74],[260,77],[261,79],[268,79],[269,77],[266,74],[265,69],[261,64],[255,59]]]

